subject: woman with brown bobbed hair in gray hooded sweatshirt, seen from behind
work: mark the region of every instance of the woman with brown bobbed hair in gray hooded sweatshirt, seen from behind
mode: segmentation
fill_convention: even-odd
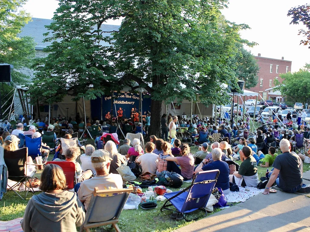
[[[82,203],[76,193],[65,191],[66,179],[56,164],[48,164],[41,174],[40,189],[28,202],[24,219],[20,221],[24,232],[77,231],[85,220]]]

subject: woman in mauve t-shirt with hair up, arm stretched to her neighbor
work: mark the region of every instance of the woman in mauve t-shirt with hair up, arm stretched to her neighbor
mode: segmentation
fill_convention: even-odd
[[[190,180],[193,178],[195,159],[190,153],[190,148],[187,143],[182,143],[180,149],[180,154],[182,156],[174,157],[171,155],[170,157],[166,158],[168,161],[167,171],[180,174],[184,177],[184,181]],[[179,169],[178,165],[181,166],[181,170]]]

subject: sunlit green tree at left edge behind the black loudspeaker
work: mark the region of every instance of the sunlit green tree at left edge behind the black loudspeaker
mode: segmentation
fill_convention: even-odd
[[[2,97],[11,91],[13,86],[25,84],[29,76],[17,69],[30,67],[34,58],[35,43],[32,37],[19,37],[21,28],[31,20],[29,14],[21,10],[25,0],[0,1],[0,63],[14,66],[11,70],[11,83],[1,87]]]

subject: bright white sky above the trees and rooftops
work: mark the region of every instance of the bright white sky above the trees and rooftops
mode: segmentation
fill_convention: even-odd
[[[222,13],[227,20],[237,24],[247,24],[251,29],[241,31],[241,37],[255,41],[259,45],[249,48],[253,55],[292,61],[292,71],[298,71],[305,63],[310,63],[308,46],[299,45],[302,36],[297,35],[301,25],[289,25],[291,18],[287,11],[294,6],[304,5],[306,0],[231,0],[228,9]],[[29,0],[24,9],[34,18],[51,19],[58,1]],[[120,25],[111,20],[109,24]]]

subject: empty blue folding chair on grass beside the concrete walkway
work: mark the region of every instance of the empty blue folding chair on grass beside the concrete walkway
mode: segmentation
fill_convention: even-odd
[[[212,190],[216,184],[218,176],[218,169],[198,172],[193,177],[192,184],[186,189],[164,194],[164,197],[167,200],[161,207],[160,211],[170,210],[172,212],[180,213],[185,221],[196,220],[200,217],[206,216],[207,211],[205,207],[210,198],[210,194],[212,194]],[[173,208],[170,208],[171,206]],[[191,218],[190,220],[186,218],[187,213],[198,209],[205,212],[205,214],[194,219]]]

